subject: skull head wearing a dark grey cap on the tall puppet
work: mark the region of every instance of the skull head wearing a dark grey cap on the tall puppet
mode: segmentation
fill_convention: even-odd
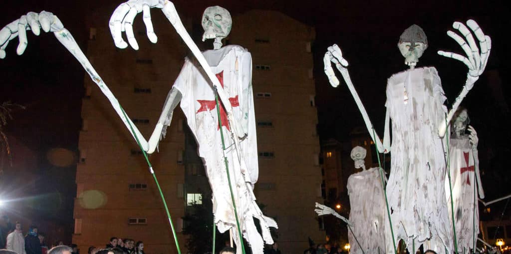
[[[428,38],[421,27],[412,25],[399,37],[398,48],[405,58],[405,64],[413,68],[428,48]]]

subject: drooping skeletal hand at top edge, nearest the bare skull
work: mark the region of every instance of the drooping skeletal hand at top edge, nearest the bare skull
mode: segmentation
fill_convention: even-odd
[[[129,0],[117,7],[108,23],[115,46],[121,49],[128,47],[122,37],[122,32],[126,32],[131,48],[138,50],[138,43],[133,33],[133,20],[136,14],[141,12],[144,12],[143,19],[146,25],[147,37],[152,43],[156,43],[158,37],[156,37],[153,30],[150,8],[164,9],[167,4],[172,3],[168,0]]]

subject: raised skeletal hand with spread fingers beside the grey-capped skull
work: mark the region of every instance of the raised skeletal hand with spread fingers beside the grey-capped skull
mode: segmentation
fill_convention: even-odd
[[[452,27],[458,30],[465,39],[461,38],[458,34],[448,31],[447,35],[453,38],[458,44],[461,46],[466,56],[462,56],[460,54],[452,53],[452,52],[444,52],[438,51],[440,56],[445,56],[449,58],[456,59],[458,61],[463,62],[467,67],[469,67],[468,75],[472,77],[473,82],[470,84],[468,89],[471,89],[474,82],[479,78],[479,76],[484,71],[486,67],[486,63],[488,61],[488,57],[490,56],[490,51],[492,49],[492,39],[490,36],[484,35],[479,25],[477,25],[476,21],[469,19],[467,21],[467,26],[472,30],[472,32],[467,29],[465,25],[461,22],[454,22]],[[476,42],[474,40],[474,33],[476,35],[477,40],[479,40],[479,47],[481,51],[479,52],[479,48],[477,48]]]

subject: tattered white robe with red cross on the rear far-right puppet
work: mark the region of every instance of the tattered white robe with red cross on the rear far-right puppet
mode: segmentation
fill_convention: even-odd
[[[475,241],[479,234],[478,194],[476,191],[478,183],[475,178],[475,170],[479,168],[479,159],[477,150],[472,150],[468,136],[451,138],[449,161],[458,250],[461,251],[464,248],[468,251],[474,248],[474,234]],[[445,188],[449,218],[451,219],[451,195],[448,180],[446,178]],[[452,219],[450,222],[452,223]]]

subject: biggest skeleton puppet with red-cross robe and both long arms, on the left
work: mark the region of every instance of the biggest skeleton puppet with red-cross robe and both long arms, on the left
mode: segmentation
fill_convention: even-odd
[[[131,122],[118,100],[80,50],[71,33],[64,28],[62,22],[52,13],[46,11],[41,13],[29,12],[0,30],[0,58],[5,58],[5,49],[8,42],[16,37],[19,37],[17,54],[24,53],[28,44],[27,30],[32,30],[35,35],[39,35],[40,28],[44,32],[53,32],[64,47],[82,64],[91,79],[110,101],[130,133],[148,153],[154,152],[159,140],[165,136],[165,129],[172,120],[172,111],[177,103],[181,101],[181,108],[187,116],[188,124],[198,141],[199,155],[204,159],[207,176],[213,190],[213,213],[218,229],[220,232],[233,230],[233,238],[235,238],[236,244],[240,246],[241,239],[235,231],[237,219],[239,219],[243,237],[251,245],[252,252],[263,253],[264,242],[273,243],[269,227],[277,227],[277,225],[271,218],[262,214],[253,195],[253,185],[257,181],[259,169],[253,113],[250,53],[236,45],[220,48],[221,39],[227,36],[230,31],[231,19],[225,9],[210,7],[206,9],[203,15],[202,24],[205,28],[203,39],[214,38],[215,50],[205,51],[201,54],[197,45],[183,27],[174,5],[167,0],[130,0],[115,9],[109,25],[117,47],[127,47],[128,44],[121,36],[122,32],[125,31],[129,44],[133,49],[138,49],[133,34],[132,21],[136,14],[140,12],[144,12],[144,23],[149,40],[156,43],[157,37],[152,27],[150,8],[162,10],[176,32],[188,45],[195,59],[185,59],[181,73],[169,92],[161,116],[149,141],[144,139],[140,131]],[[216,75],[212,71],[215,71]],[[216,104],[214,103],[214,90],[217,91],[221,103],[219,113],[222,121],[221,126],[217,118]],[[228,148],[226,150],[222,150],[220,130],[229,133],[229,135],[225,135],[225,147]],[[237,211],[239,211],[238,218],[234,215],[233,200],[229,192],[229,179],[227,179],[223,156],[227,158],[231,172],[230,181],[233,183],[234,200],[236,201]],[[254,225],[253,217],[260,221],[262,237]],[[238,253],[241,253],[241,248],[238,248]]]

